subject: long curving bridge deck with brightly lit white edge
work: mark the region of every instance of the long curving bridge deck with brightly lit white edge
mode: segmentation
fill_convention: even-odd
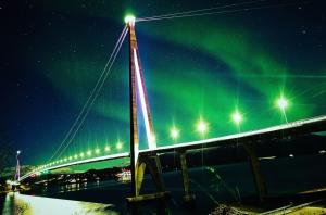
[[[178,143],[173,146],[158,147],[155,150],[149,150],[149,149],[140,150],[139,154],[141,155],[141,154],[151,154],[151,153],[168,153],[173,151],[183,151],[183,150],[196,150],[196,149],[216,147],[220,144],[233,144],[236,142],[243,143],[249,141],[254,142],[262,139],[280,138],[286,136],[318,132],[318,131],[326,131],[326,115],[314,117],[314,118],[302,119],[302,121],[296,121],[292,123],[273,126],[264,129],[228,135],[218,138],[211,138],[211,139],[192,141],[192,142],[184,142],[184,143]],[[130,156],[129,152],[124,152],[118,154],[98,156],[98,157],[87,159],[83,161],[75,161],[71,163],[54,165],[42,169],[33,170],[24,175],[23,177],[21,177],[21,181],[40,170],[53,170],[53,169],[68,167],[73,165],[87,164],[87,163],[93,163],[100,161],[109,161],[115,159],[124,159],[129,156]]]

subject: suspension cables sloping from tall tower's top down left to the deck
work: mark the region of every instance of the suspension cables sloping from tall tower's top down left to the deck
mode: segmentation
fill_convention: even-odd
[[[88,106],[89,106],[89,104],[90,104],[91,99],[93,98],[95,93],[96,93],[96,92],[98,91],[98,89],[99,89],[100,83],[102,83],[102,80],[105,79],[106,76],[108,76],[108,72],[110,71],[110,68],[111,68],[111,66],[112,66],[112,64],[113,64],[112,61],[115,60],[114,55],[116,56],[115,53],[118,52],[120,47],[121,47],[122,42],[124,41],[124,38],[125,38],[126,34],[127,34],[127,30],[128,30],[128,29],[127,29],[127,27],[125,26],[125,27],[123,28],[123,30],[122,30],[122,34],[120,35],[118,40],[116,41],[116,43],[115,43],[115,46],[114,46],[114,49],[113,49],[113,51],[112,51],[112,53],[111,53],[111,55],[110,55],[110,58],[109,58],[109,60],[108,60],[108,62],[106,62],[104,68],[103,68],[102,72],[101,72],[100,77],[99,77],[98,80],[97,80],[96,86],[95,86],[93,89],[91,90],[91,92],[90,92],[90,94],[89,94],[89,97],[88,97],[86,103],[84,104],[82,111],[79,112],[77,118],[75,119],[74,124],[73,124],[72,127],[70,128],[68,132],[65,135],[63,141],[61,142],[61,144],[59,146],[59,148],[57,149],[57,151],[54,152],[54,154],[51,156],[51,159],[49,159],[48,162],[52,161],[52,160],[57,156],[57,154],[59,153],[59,151],[61,150],[61,148],[66,143],[67,139],[71,137],[71,134],[73,132],[74,128],[77,126],[77,123],[79,123],[79,119],[82,118],[82,115],[88,110]],[[110,68],[108,69],[108,66],[109,66],[109,65],[111,65],[111,66],[110,66]],[[80,126],[78,126],[78,127],[80,127]]]

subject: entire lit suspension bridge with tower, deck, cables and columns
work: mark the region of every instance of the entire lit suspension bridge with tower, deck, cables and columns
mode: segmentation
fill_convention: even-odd
[[[187,16],[187,14],[184,15],[177,14],[176,16],[181,17],[181,16]],[[326,115],[322,115],[313,118],[304,118],[294,122],[288,122],[285,113],[287,101],[284,98],[281,98],[278,101],[278,104],[286,118],[285,124],[272,126],[263,129],[258,129],[258,130],[243,131],[243,132],[241,132],[239,129],[239,132],[228,135],[228,136],[202,139],[202,140],[191,141],[191,142],[183,142],[173,146],[158,147],[155,140],[154,127],[151,118],[150,106],[147,97],[147,91],[146,91],[146,85],[142,77],[142,67],[141,67],[140,55],[139,55],[139,50],[138,50],[138,45],[136,39],[135,24],[137,22],[147,22],[150,20],[168,18],[168,17],[170,16],[158,16],[152,18],[136,20],[133,16],[127,16],[125,20],[126,25],[123,28],[121,37],[118,38],[115,45],[115,48],[110,56],[108,64],[105,65],[105,69],[108,68],[110,71],[122,47],[122,43],[124,42],[124,39],[128,34],[129,35],[130,151],[116,153],[116,154],[106,154],[101,156],[88,157],[88,159],[85,159],[86,155],[83,153],[78,155],[78,157],[80,159],[73,157],[73,156],[61,159],[68,143],[72,141],[71,140],[66,146],[63,147],[60,146],[58,151],[54,153],[54,155],[50,159],[50,161],[47,164],[38,166],[34,170],[27,173],[22,177],[18,176],[16,179],[17,181],[22,182],[28,177],[33,175],[37,175],[38,173],[41,172],[48,172],[48,170],[53,170],[53,169],[74,166],[74,165],[87,164],[87,163],[130,157],[133,194],[130,198],[127,199],[128,202],[133,204],[135,202],[149,200],[149,199],[164,199],[166,198],[167,191],[164,188],[164,181],[162,179],[162,167],[160,162],[160,155],[165,153],[177,152],[179,154],[180,164],[181,164],[181,174],[183,174],[183,184],[184,184],[183,186],[185,191],[184,201],[192,202],[195,201],[195,195],[191,193],[189,187],[189,176],[187,170],[188,167],[187,167],[186,153],[192,150],[203,150],[203,149],[210,149],[220,146],[241,143],[244,146],[250,156],[250,162],[253,170],[253,176],[255,179],[258,195],[262,200],[266,193],[263,184],[263,177],[260,173],[259,160],[255,156],[255,153],[251,146],[262,139],[292,137],[302,134],[318,132],[318,131],[326,130],[325,129]],[[93,101],[97,99],[97,93],[101,90],[104,84],[103,81],[104,79],[101,78],[97,83],[95,90],[91,92],[91,97],[89,98],[89,100],[87,100],[86,104],[88,106],[91,106]],[[84,106],[85,109],[83,108],[83,111],[84,110],[86,110],[86,112],[89,111],[87,105]],[[139,137],[138,137],[139,128],[138,128],[138,118],[137,118],[138,109],[141,111],[143,124],[146,128],[148,149],[145,150],[139,150]],[[80,116],[83,117],[83,122],[86,118],[86,116]],[[236,113],[233,117],[236,124],[239,124],[241,122],[240,113]],[[205,129],[204,126],[205,125],[202,124],[199,129],[202,130]],[[57,159],[57,161],[54,159]],[[158,193],[153,193],[153,194],[140,193],[146,168],[149,168],[150,170],[152,179],[154,180],[158,187]]]

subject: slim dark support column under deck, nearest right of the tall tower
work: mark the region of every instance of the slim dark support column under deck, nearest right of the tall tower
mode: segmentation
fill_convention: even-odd
[[[187,160],[186,160],[186,151],[178,151],[180,156],[180,165],[181,165],[181,175],[183,175],[183,182],[184,182],[184,204],[187,207],[195,207],[195,200],[196,197],[190,191],[190,180],[187,167]]]

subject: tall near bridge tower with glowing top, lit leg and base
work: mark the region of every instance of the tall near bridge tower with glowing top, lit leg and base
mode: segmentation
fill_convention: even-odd
[[[163,202],[168,194],[165,192],[162,167],[160,159],[156,154],[139,156],[139,138],[137,123],[137,101],[140,103],[141,113],[145,121],[146,135],[149,149],[155,149],[155,136],[151,119],[148,97],[146,92],[140,55],[135,34],[135,17],[127,16],[125,18],[129,30],[129,102],[130,102],[130,165],[131,165],[131,190],[133,197],[127,198],[128,203],[137,203],[140,201],[160,199]],[[149,169],[154,180],[158,191],[152,194],[140,194],[141,184],[146,168]]]

